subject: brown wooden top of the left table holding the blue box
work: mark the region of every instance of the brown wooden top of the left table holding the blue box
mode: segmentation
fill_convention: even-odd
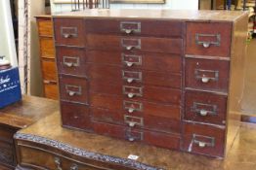
[[[23,95],[20,102],[0,109],[0,124],[21,129],[58,110],[56,100]]]

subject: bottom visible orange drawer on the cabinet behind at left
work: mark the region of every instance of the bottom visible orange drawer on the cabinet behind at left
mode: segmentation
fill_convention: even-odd
[[[44,80],[44,96],[54,100],[59,99],[59,86],[57,82]]]

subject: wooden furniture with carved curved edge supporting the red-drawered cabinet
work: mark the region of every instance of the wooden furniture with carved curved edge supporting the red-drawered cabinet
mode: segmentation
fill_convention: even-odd
[[[252,170],[256,167],[256,125],[242,124],[227,157],[213,159],[130,143],[63,128],[60,113],[40,119],[15,135],[17,170]],[[139,156],[132,160],[130,154]]]

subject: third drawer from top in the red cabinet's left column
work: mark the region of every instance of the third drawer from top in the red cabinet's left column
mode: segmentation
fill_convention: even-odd
[[[86,79],[60,76],[61,100],[88,104],[88,85]]]

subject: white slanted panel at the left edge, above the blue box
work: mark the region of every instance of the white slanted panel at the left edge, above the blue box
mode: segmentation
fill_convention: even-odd
[[[0,0],[0,55],[18,65],[10,0]]]

